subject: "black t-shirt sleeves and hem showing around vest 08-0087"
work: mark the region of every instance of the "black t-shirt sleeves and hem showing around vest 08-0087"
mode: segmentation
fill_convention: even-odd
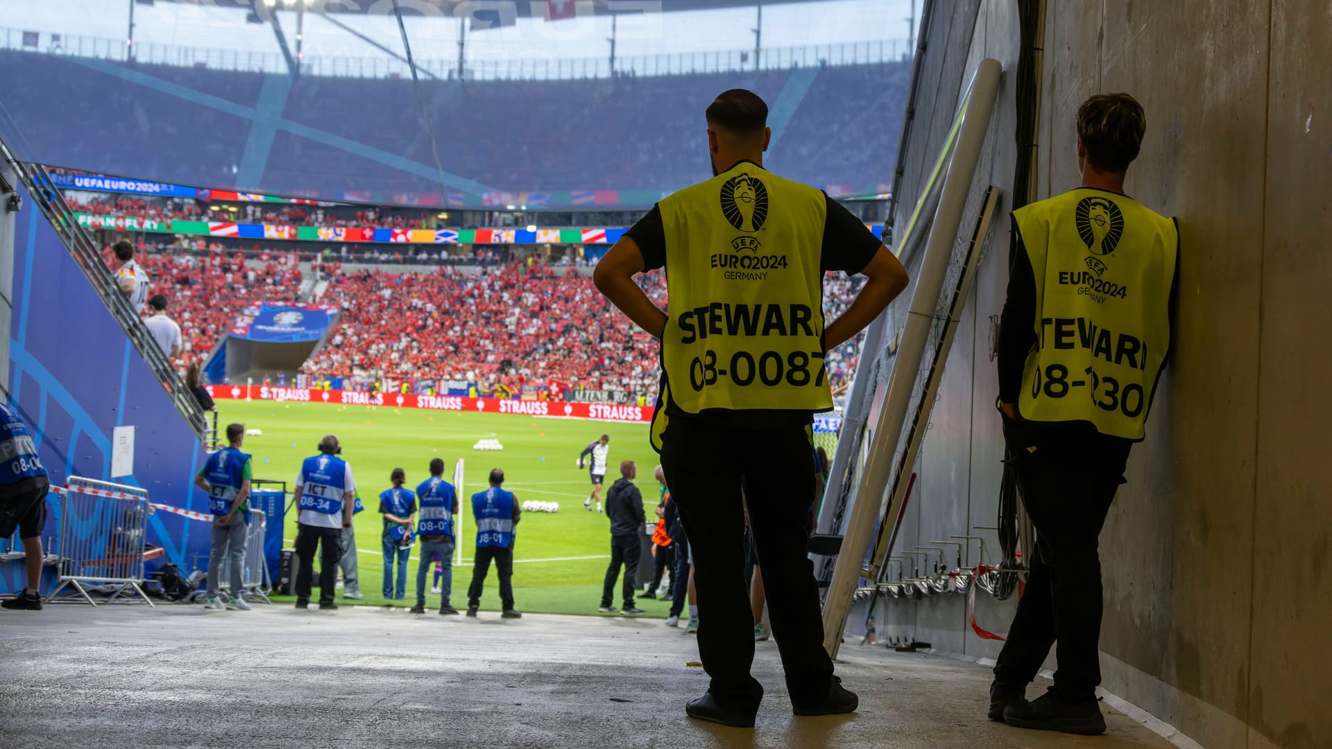
[[[840,203],[829,197],[827,193],[823,193],[823,201],[827,209],[823,219],[823,247],[821,249],[819,264],[823,272],[842,271],[848,276],[854,276],[870,264],[870,259],[874,257],[874,253],[879,251],[879,245],[883,243],[879,241],[879,237],[874,236],[874,232],[863,221],[856,219]],[[662,223],[661,207],[653,205],[653,209],[625,232],[625,236],[634,240],[634,244],[643,253],[645,272],[666,265],[666,228]],[[666,272],[670,273],[670,269],[667,268]],[[821,279],[819,288],[822,287]],[[665,380],[666,371],[662,368],[663,384]],[[666,388],[662,388],[662,390],[666,393],[670,392]],[[702,417],[710,421],[753,428],[791,424],[805,425],[814,421],[813,412],[790,409],[727,410],[718,408],[705,409],[698,414],[693,414],[681,410],[673,400],[666,402],[666,413],[685,418]]]

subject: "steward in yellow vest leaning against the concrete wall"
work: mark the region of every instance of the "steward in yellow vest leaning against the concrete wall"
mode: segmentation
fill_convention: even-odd
[[[1036,533],[988,717],[1018,728],[1106,730],[1099,536],[1169,356],[1179,277],[1175,221],[1124,195],[1146,127],[1132,96],[1092,96],[1078,109],[1082,187],[1012,213],[999,408],[1006,478]],[[1055,685],[1028,702],[1052,642]]]

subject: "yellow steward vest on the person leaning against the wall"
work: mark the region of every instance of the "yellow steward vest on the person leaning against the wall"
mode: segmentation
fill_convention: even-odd
[[[1136,200],[1078,188],[1014,212],[1036,281],[1018,410],[1142,440],[1169,351],[1179,229]]]

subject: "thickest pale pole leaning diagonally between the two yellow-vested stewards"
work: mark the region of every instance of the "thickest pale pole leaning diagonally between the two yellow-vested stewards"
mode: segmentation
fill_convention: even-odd
[[[930,324],[948,269],[948,257],[952,255],[952,245],[958,239],[967,193],[971,191],[971,180],[980,159],[980,148],[984,145],[986,132],[990,128],[990,115],[999,91],[1002,71],[1003,68],[996,60],[984,59],[972,77],[972,92],[967,97],[962,132],[952,163],[948,167],[948,176],[943,183],[939,211],[930,231],[930,241],[926,245],[915,296],[911,299],[911,313],[902,333],[898,359],[892,367],[892,377],[888,380],[887,396],[879,412],[876,438],[864,473],[860,476],[860,486],[856,492],[858,501],[851,510],[846,538],[832,570],[832,581],[823,608],[823,646],[832,657],[836,657],[842,645],[842,632],[846,628],[851,596],[860,578],[864,554],[870,549],[870,541],[874,537],[879,510],[883,505],[883,493],[892,476],[898,440],[906,421],[911,390],[919,376],[920,360],[924,357]],[[887,520],[887,522],[892,521],[894,518]]]

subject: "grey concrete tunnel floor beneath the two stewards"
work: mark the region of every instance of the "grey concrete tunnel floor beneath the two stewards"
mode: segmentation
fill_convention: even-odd
[[[1169,746],[1110,708],[1106,737],[994,724],[986,669],[851,645],[838,670],[856,714],[793,717],[766,642],[758,728],[701,724],[683,705],[707,678],[681,632],[365,608],[0,612],[0,746]]]

